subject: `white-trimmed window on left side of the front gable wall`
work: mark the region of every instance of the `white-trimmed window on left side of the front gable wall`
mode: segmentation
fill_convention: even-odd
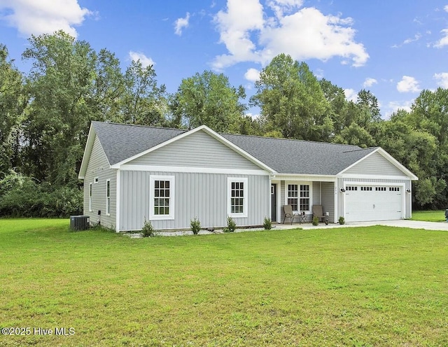
[[[151,176],[150,190],[150,218],[174,219],[174,176]]]

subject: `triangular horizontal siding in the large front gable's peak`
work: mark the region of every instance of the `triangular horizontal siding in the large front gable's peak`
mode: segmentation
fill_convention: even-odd
[[[127,164],[260,170],[253,162],[202,131],[169,143]]]

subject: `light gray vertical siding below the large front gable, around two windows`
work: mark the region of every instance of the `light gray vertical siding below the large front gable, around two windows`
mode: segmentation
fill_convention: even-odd
[[[174,176],[174,220],[151,220],[155,229],[190,228],[198,218],[202,227],[223,227],[228,212],[228,178],[248,178],[248,217],[237,225],[262,225],[269,216],[269,177],[228,174],[121,171],[123,197],[120,230],[140,230],[149,215],[150,176]]]

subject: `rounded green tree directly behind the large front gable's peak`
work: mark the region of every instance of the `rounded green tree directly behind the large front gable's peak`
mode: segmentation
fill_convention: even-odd
[[[217,132],[239,132],[246,111],[239,99],[244,97],[244,88],[232,87],[223,73],[204,71],[182,80],[171,106],[179,126],[207,125]]]

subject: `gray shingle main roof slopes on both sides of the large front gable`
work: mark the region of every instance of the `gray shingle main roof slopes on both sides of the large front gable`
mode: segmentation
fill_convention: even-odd
[[[92,125],[111,165],[187,132],[105,122]],[[221,136],[279,174],[336,175],[376,149],[260,136]]]

